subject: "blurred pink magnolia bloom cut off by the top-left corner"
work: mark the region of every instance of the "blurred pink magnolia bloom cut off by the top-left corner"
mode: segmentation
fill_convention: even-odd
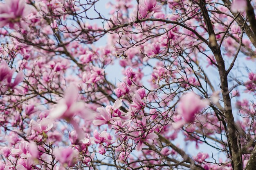
[[[14,24],[31,13],[31,7],[24,0],[7,0],[0,4],[0,27]]]

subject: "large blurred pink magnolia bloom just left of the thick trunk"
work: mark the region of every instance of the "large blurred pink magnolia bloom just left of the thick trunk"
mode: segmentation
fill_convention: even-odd
[[[178,121],[173,124],[174,128],[179,128],[184,123],[193,122],[195,114],[206,107],[208,103],[208,100],[202,100],[200,96],[194,92],[186,93],[181,97],[179,106],[177,107],[177,113],[182,116],[183,121]]]

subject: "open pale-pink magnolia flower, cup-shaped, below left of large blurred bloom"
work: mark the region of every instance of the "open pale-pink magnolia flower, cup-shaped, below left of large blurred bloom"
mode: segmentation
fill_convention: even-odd
[[[40,123],[36,122],[35,120],[30,121],[30,125],[34,131],[38,133],[47,133],[50,129],[52,129],[52,122],[49,119],[43,118]]]

